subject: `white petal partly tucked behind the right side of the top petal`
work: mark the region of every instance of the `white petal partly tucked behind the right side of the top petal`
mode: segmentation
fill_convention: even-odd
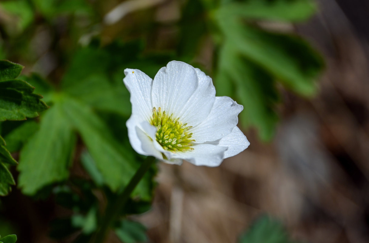
[[[181,122],[196,126],[209,115],[215,101],[215,87],[211,78],[195,68],[199,85],[179,112]]]

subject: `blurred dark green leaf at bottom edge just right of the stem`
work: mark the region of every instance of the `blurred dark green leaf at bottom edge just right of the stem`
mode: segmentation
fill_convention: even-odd
[[[115,228],[115,234],[124,243],[147,242],[146,227],[138,222],[121,220]]]

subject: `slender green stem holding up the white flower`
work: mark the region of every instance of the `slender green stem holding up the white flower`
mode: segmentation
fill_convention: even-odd
[[[124,188],[123,192],[118,195],[118,198],[111,205],[107,206],[105,215],[101,221],[100,227],[97,229],[96,233],[92,236],[90,242],[91,243],[103,243],[106,235],[110,229],[112,223],[115,222],[117,217],[119,216],[119,212],[122,212],[125,203],[127,203],[130,198],[131,193],[137,186],[137,184],[144,177],[145,173],[151,167],[152,163],[155,161],[155,157],[147,157],[145,161],[141,164],[141,166],[136,171],[135,175],[131,178],[128,185]]]

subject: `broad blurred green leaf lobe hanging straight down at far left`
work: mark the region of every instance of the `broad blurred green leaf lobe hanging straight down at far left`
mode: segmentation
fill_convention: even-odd
[[[61,105],[55,104],[42,116],[40,128],[20,153],[19,186],[26,195],[68,178],[75,135]]]

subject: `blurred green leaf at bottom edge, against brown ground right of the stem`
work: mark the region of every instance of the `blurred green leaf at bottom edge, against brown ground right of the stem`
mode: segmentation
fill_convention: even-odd
[[[268,216],[262,216],[244,233],[238,243],[293,243],[282,224]]]

